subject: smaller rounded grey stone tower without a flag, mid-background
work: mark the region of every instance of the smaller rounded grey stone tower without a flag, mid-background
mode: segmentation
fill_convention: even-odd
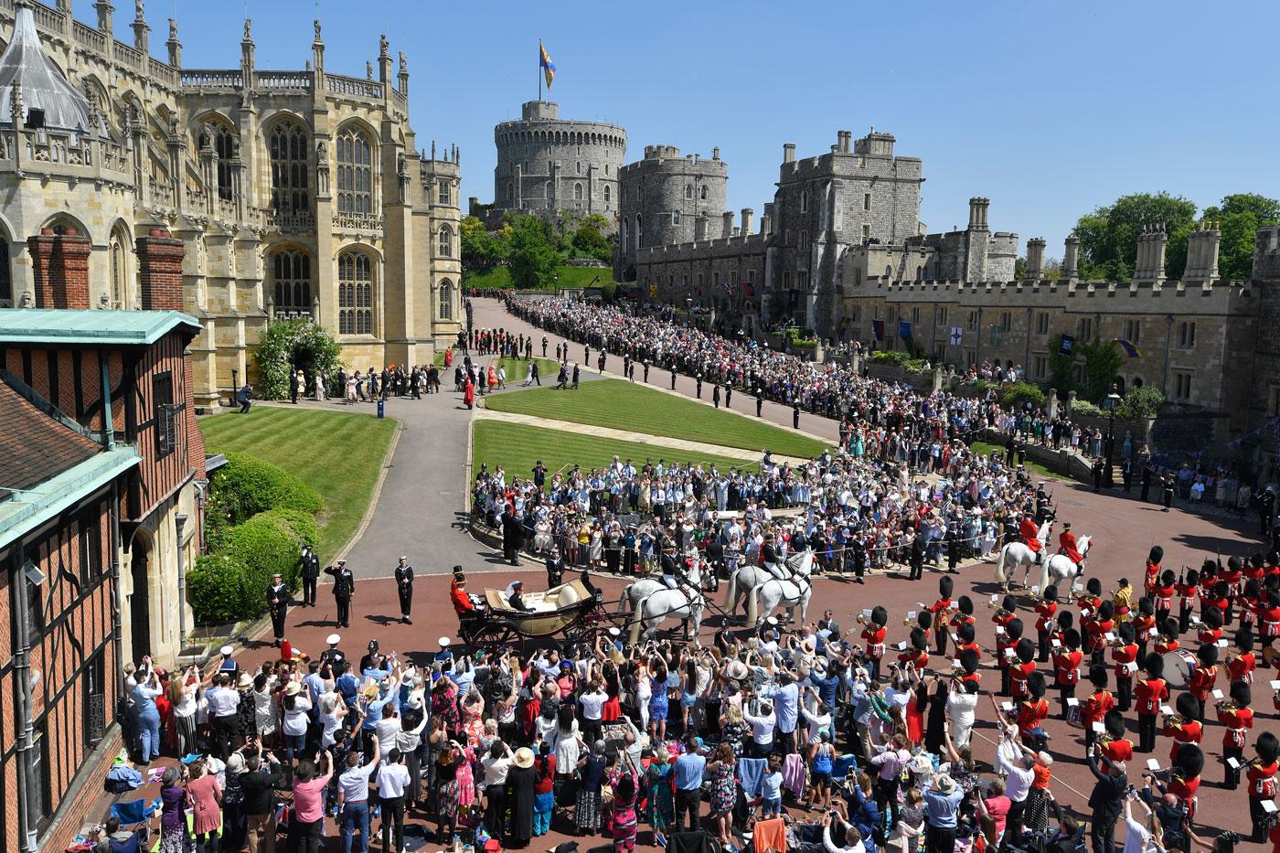
[[[728,167],[719,149],[710,159],[680,155],[672,145],[646,145],[644,159],[622,167],[618,251],[613,275],[635,280],[637,248],[713,240],[723,234]]]

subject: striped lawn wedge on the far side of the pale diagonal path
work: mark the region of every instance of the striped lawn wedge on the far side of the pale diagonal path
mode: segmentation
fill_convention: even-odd
[[[614,360],[616,357],[611,356]],[[549,375],[554,378],[554,374]],[[704,397],[709,398],[710,393],[710,383],[704,384]],[[749,394],[740,393],[736,397],[733,402],[740,411],[742,406],[755,405]],[[577,391],[535,388],[515,394],[502,394],[485,405],[494,411],[553,418],[576,424],[595,424],[611,429],[627,429],[707,444],[741,447],[753,451],[768,448],[783,456],[809,459],[822,453],[823,448],[827,447],[815,438],[797,435],[763,420],[717,411],[692,400],[621,379],[584,382]]]

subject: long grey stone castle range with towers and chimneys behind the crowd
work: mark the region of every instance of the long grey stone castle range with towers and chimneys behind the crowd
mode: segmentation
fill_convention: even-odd
[[[1044,241],[1032,238],[1015,280],[1018,234],[991,231],[991,201],[969,200],[963,231],[927,233],[922,163],[893,145],[874,128],[860,140],[841,131],[814,158],[785,145],[758,225],[750,207],[737,218],[718,209],[727,183],[718,150],[708,160],[649,146],[621,172],[614,275],[646,297],[712,307],[746,334],[794,321],[961,370],[1021,368],[1033,382],[1050,379],[1060,334],[1124,338],[1138,355],[1121,368],[1121,391],[1155,383],[1180,409],[1212,414],[1216,439],[1280,415],[1280,228],[1258,232],[1251,280],[1219,278],[1213,223],[1192,232],[1181,280],[1165,278],[1161,225],[1140,236],[1129,282],[1082,280],[1074,236],[1060,278],[1046,279]],[[1260,443],[1272,462],[1275,439]]]

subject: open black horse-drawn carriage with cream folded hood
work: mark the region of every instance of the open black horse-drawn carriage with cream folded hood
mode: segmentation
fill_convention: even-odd
[[[500,589],[484,590],[485,610],[463,619],[458,634],[471,646],[509,646],[516,642],[563,637],[570,643],[595,643],[614,626],[604,606],[604,593],[591,584],[588,573],[545,592],[525,593],[531,610],[516,610]]]

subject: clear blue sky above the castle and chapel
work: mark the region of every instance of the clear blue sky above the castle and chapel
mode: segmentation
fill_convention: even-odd
[[[93,20],[90,0],[76,14]],[[164,55],[172,1],[152,0]],[[301,68],[314,1],[179,0],[183,60],[230,68],[244,10],[260,68]],[[462,149],[463,196],[493,197],[493,126],[536,88],[541,37],[561,115],[627,129],[730,168],[730,205],[773,196],[782,143],[829,150],[870,126],[924,160],[922,219],[991,225],[1061,255],[1076,216],[1117,195],[1166,190],[1199,206],[1280,196],[1280,4],[1183,3],[364,3],[319,4],[330,72],[362,76],[385,32],[408,54],[420,147]],[[355,14],[352,14],[355,10]],[[133,9],[116,0],[118,37]]]

